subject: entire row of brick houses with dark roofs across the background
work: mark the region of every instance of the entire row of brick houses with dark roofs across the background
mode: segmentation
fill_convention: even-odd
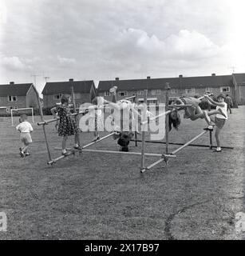
[[[100,81],[97,93],[106,99],[110,99],[109,88],[117,86],[117,98],[137,96],[137,100],[143,101],[144,90],[148,90],[148,103],[164,103],[165,84],[171,86],[170,97],[182,95],[196,96],[211,92],[215,95],[223,93],[231,96],[236,105],[245,105],[245,73],[184,77],[177,78],[146,78]],[[81,103],[89,102],[91,87],[95,89],[93,80],[74,81],[69,79],[66,82],[46,82],[42,90],[42,101],[44,108],[50,108],[60,102],[62,94],[71,94],[73,86],[75,102],[77,107]],[[34,107],[38,108],[38,100],[34,92],[33,83],[15,84],[10,82],[7,85],[0,85],[0,112],[8,112],[11,109]]]

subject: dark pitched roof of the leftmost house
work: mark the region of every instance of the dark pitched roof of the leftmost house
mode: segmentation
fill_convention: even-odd
[[[26,96],[32,83],[0,85],[0,96]]]

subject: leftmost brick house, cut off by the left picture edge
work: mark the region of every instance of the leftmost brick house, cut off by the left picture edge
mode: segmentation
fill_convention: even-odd
[[[33,83],[0,85],[0,113],[10,113],[11,109],[38,108],[38,99]]]

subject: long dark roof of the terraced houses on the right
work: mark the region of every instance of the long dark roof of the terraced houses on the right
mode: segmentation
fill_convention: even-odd
[[[118,90],[154,90],[164,89],[169,82],[172,89],[186,89],[192,87],[232,86],[231,75],[182,77],[182,78],[151,78],[133,80],[110,80],[99,82],[98,91],[108,91],[110,87],[117,86]]]

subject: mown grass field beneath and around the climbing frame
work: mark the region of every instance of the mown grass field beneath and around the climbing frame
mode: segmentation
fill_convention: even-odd
[[[1,118],[0,212],[7,214],[8,229],[0,239],[242,238],[235,232],[235,214],[244,210],[244,113],[244,106],[234,109],[223,129],[223,146],[234,150],[187,147],[168,168],[162,164],[144,174],[137,156],[85,152],[48,166],[36,124],[31,156],[20,158],[19,134],[10,118]],[[204,120],[182,121],[171,142],[187,142],[205,126]],[[53,124],[47,130],[52,154],[58,156],[53,148],[61,147],[61,138]],[[81,134],[83,143],[92,138],[92,133]],[[205,134],[197,142],[208,144],[208,139]],[[118,150],[112,138],[91,148]],[[140,152],[140,145],[132,143],[130,150]],[[147,152],[163,150],[147,144]]]

